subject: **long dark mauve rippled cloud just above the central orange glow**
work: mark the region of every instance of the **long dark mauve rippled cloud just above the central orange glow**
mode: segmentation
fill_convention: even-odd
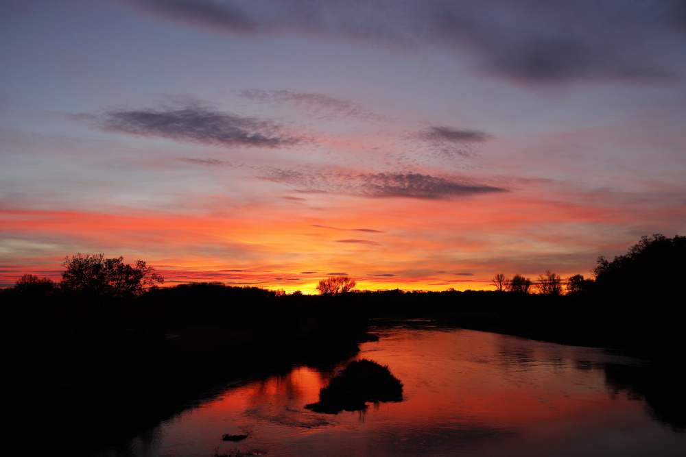
[[[359,197],[409,197],[450,199],[506,189],[421,173],[303,173],[288,169],[268,169],[267,180],[283,182],[303,193],[336,193]]]

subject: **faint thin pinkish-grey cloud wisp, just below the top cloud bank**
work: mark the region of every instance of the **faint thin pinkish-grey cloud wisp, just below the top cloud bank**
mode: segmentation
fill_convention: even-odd
[[[257,103],[290,103],[306,108],[307,112],[322,119],[353,117],[364,120],[382,120],[383,117],[366,110],[362,105],[326,94],[295,92],[293,90],[241,90],[241,97]]]

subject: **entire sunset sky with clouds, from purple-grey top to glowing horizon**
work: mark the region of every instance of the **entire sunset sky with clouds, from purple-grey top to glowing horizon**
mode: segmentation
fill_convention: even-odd
[[[0,0],[0,286],[492,290],[686,234],[686,1]]]

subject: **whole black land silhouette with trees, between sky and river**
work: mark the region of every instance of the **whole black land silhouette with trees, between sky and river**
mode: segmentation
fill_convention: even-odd
[[[372,318],[430,318],[654,360],[686,349],[684,236],[643,237],[624,256],[599,258],[593,278],[569,278],[566,294],[549,271],[536,282],[496,277],[499,291],[350,291],[346,278],[310,296],[158,288],[163,279],[145,262],[102,255],[73,256],[64,268],[60,284],[25,275],[0,291],[0,350],[8,432],[50,442],[78,430],[73,455],[143,431],[228,379],[342,360]],[[34,425],[41,417],[48,428]]]

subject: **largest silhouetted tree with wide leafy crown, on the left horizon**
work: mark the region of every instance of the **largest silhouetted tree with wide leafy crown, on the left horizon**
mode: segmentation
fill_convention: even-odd
[[[145,286],[162,284],[164,278],[143,260],[135,266],[122,262],[123,257],[105,258],[104,254],[76,254],[64,258],[62,282],[65,291],[110,297],[140,295]]]

